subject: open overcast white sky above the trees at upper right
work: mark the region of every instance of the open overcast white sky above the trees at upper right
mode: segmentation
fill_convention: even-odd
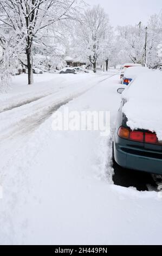
[[[86,0],[90,5],[100,4],[109,15],[112,26],[146,24],[152,14],[159,14],[161,0]]]

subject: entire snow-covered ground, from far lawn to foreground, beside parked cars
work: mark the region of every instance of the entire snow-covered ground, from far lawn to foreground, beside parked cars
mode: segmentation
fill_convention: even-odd
[[[39,75],[33,87],[22,75],[0,96],[1,244],[161,244],[157,192],[112,181],[116,73]],[[51,114],[65,106],[111,111],[111,135],[53,131]]]

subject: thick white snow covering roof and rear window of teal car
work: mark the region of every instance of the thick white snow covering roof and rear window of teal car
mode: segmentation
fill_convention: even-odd
[[[145,72],[122,93],[126,103],[122,108],[132,129],[145,129],[157,133],[162,141],[162,72]]]

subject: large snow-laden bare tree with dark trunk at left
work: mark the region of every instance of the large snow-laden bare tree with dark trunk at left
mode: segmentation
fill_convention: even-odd
[[[0,0],[0,30],[15,33],[27,56],[28,84],[33,83],[33,42],[38,33],[69,19],[76,0]]]

